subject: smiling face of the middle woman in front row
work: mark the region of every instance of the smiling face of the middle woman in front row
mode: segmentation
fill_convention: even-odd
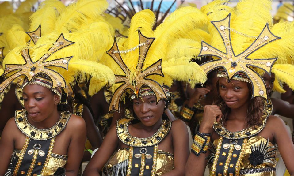
[[[156,104],[155,95],[143,96],[133,100],[133,109],[144,126],[153,126],[161,119],[164,111],[164,101]]]

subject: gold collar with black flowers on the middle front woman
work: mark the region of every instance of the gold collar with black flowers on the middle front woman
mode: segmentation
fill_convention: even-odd
[[[133,147],[148,147],[158,144],[168,134],[171,128],[171,122],[162,120],[162,124],[157,132],[151,137],[138,138],[132,137],[128,132],[128,125],[133,119],[122,118],[116,121],[116,132],[118,138],[128,146]]]

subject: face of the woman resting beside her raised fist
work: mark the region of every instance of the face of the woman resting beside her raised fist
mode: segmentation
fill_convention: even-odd
[[[238,109],[249,102],[250,91],[247,83],[244,81],[231,80],[228,83],[227,78],[219,79],[220,96],[231,109]]]

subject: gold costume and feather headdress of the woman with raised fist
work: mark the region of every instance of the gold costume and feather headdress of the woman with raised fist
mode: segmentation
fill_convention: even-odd
[[[251,83],[252,98],[269,99],[260,76],[265,72],[276,75],[274,90],[283,91],[280,83],[293,89],[294,68],[287,64],[293,56],[293,24],[272,25],[270,1],[246,0],[239,2],[236,9],[223,5],[224,2],[213,1],[201,8],[210,21],[211,42],[186,40],[181,41],[181,45],[190,47],[189,52],[192,54],[194,50],[198,57],[214,58],[200,65],[205,73],[218,69],[217,77]],[[178,54],[189,55],[189,52]],[[213,129],[220,136],[215,141],[211,141],[211,134],[197,132],[192,152],[199,156],[209,150],[206,159],[212,176],[276,175],[277,146],[258,136],[266,125],[271,108],[269,101],[260,117],[260,126],[249,126],[235,133],[224,127],[223,119],[215,122]]]

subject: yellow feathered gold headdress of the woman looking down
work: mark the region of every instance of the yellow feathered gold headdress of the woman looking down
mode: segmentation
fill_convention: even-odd
[[[70,19],[78,18],[80,14],[75,13],[73,9],[79,6],[79,9],[81,9],[79,13],[82,13],[83,8],[87,6],[85,1],[87,0],[77,2],[74,7],[70,8],[72,10],[67,11],[64,9],[64,13],[71,12],[72,16],[62,13],[60,19],[70,21]],[[91,2],[94,3],[94,1]],[[101,0],[96,0],[95,3],[97,2],[102,3]],[[49,3],[49,1],[46,3]],[[103,3],[107,4],[106,1],[103,1]],[[104,4],[101,5],[102,9]],[[44,6],[47,7],[46,4]],[[45,8],[44,6],[43,8]],[[54,8],[50,3],[48,6]],[[40,9],[42,11],[42,8]],[[50,8],[48,7],[48,9]],[[82,19],[85,19],[87,15],[90,16],[90,13],[86,13]],[[34,19],[42,22],[41,18]],[[46,75],[48,80],[52,82],[48,87],[52,90],[55,88],[67,88],[67,85],[81,73],[85,74],[86,77],[105,81],[108,84],[114,83],[113,71],[109,67],[95,62],[97,61],[98,51],[105,51],[106,46],[112,41],[109,25],[104,22],[91,21],[90,23],[89,21],[84,21],[78,24],[73,32],[69,32],[69,29],[73,27],[67,20],[63,20],[64,25],[56,25],[51,28],[52,32],[44,32],[42,36],[37,37],[34,40],[35,44],[31,44],[32,40],[31,42],[23,43],[27,39],[25,37],[27,34],[19,26],[15,26],[11,30],[9,36],[10,38],[14,37],[16,42],[11,43],[14,49],[7,54],[3,62],[5,69],[2,76],[6,77],[6,80],[0,84],[0,92],[18,77],[25,77],[28,84],[30,84],[40,74]],[[65,32],[60,32],[60,29]],[[41,34],[40,30],[38,34]]]

